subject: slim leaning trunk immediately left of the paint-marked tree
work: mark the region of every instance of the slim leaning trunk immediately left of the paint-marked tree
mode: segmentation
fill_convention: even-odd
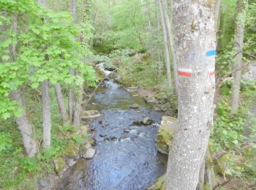
[[[175,83],[175,91],[176,96],[178,97],[178,76],[177,76],[177,61],[176,61],[176,51],[175,51],[175,45],[174,45],[174,39],[173,39],[173,31],[170,24],[170,18],[167,14],[167,1],[160,0],[160,4],[162,4],[162,10],[165,18],[165,26],[167,28],[167,37],[169,39],[169,45],[170,45],[170,52],[172,54],[173,58],[173,73],[174,73],[174,83]]]

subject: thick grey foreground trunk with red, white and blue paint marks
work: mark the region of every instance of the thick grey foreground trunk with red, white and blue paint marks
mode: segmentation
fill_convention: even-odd
[[[167,189],[195,190],[213,122],[214,3],[173,0],[178,68],[178,127],[167,164]]]

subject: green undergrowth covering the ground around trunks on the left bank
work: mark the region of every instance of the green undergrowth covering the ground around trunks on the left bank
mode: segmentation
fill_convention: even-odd
[[[37,91],[25,90],[29,118],[34,123],[37,137],[42,137],[42,104]],[[35,182],[54,173],[53,159],[61,156],[70,141],[80,145],[87,134],[76,133],[73,126],[63,125],[53,91],[51,94],[52,146],[47,150],[39,149],[34,158],[27,158],[13,118],[0,121],[0,189],[35,189]],[[36,96],[34,96],[36,95]],[[34,98],[36,97],[36,98]],[[38,143],[42,139],[37,138]]]

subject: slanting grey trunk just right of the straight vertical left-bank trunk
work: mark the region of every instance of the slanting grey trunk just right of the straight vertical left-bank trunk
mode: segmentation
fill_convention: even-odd
[[[54,89],[55,89],[55,95],[56,95],[56,99],[59,105],[59,113],[61,114],[61,119],[64,123],[68,122],[68,117],[67,117],[67,111],[65,108],[65,103],[64,103],[64,99],[63,99],[63,95],[61,92],[61,86],[59,84],[54,85]]]

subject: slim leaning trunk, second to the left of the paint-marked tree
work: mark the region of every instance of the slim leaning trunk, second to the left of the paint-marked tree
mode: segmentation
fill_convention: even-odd
[[[167,42],[167,31],[166,31],[166,27],[165,27],[165,17],[164,17],[162,4],[161,4],[160,0],[158,0],[158,4],[159,4],[160,18],[161,18],[161,23],[162,23],[163,42],[164,42],[164,46],[165,46],[165,64],[166,64],[166,69],[167,69],[168,87],[171,91],[171,94],[173,94],[172,77],[171,77],[171,72],[170,72],[170,54],[169,54],[168,42]]]

